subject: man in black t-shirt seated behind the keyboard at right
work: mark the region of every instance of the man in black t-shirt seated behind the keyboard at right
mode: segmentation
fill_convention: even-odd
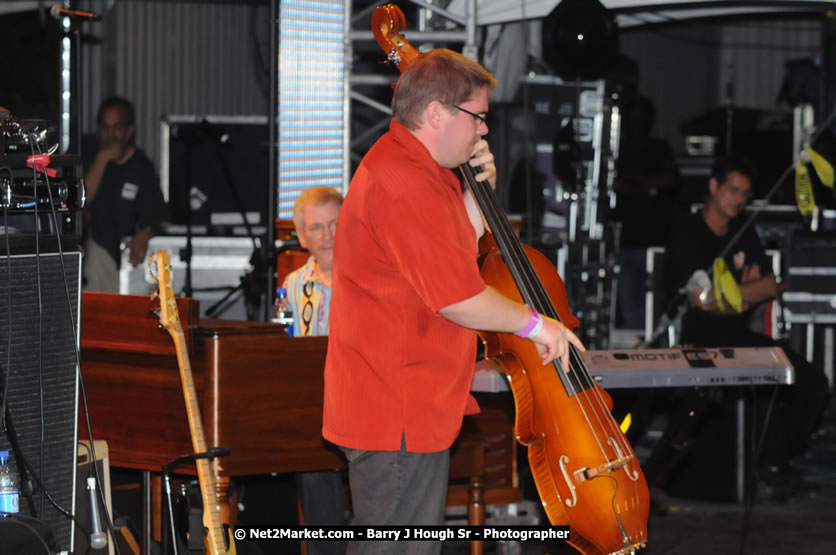
[[[754,307],[778,293],[772,265],[754,228],[745,229],[727,248],[744,225],[745,218],[740,216],[751,196],[753,173],[749,162],[741,157],[730,155],[718,160],[712,169],[702,210],[685,220],[665,247],[667,295],[676,295],[689,281],[693,284],[687,287],[689,306],[682,319],[682,345],[778,345],[749,326]],[[730,308],[728,299],[718,302],[719,293],[710,285],[713,280],[699,284],[693,277],[699,270],[710,270],[724,251],[726,267],[739,284],[742,313]],[[807,441],[818,427],[829,397],[824,372],[793,351],[784,348],[784,352],[795,369],[795,384],[782,386],[778,392],[778,409],[761,453],[762,469],[772,473],[789,471],[789,460],[806,451]]]

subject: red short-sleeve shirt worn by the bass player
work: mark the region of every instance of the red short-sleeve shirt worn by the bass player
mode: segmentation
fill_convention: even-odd
[[[485,289],[458,179],[392,121],[335,239],[323,436],[344,447],[448,448],[475,411],[476,335],[438,310]]]

